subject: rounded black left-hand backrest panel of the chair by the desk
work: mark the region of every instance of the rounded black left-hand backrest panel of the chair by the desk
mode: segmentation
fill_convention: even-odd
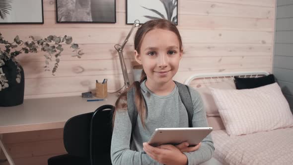
[[[90,122],[92,115],[93,112],[73,116],[65,123],[63,142],[70,155],[90,158]]]

